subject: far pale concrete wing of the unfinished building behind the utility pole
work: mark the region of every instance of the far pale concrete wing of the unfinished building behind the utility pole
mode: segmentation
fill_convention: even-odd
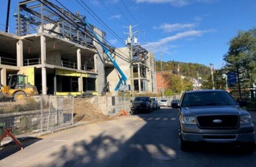
[[[130,57],[130,50],[128,47],[118,48],[116,49],[116,52],[125,55],[125,57]],[[128,78],[127,84],[131,85],[130,63],[127,63],[126,60],[120,57],[116,57],[116,61]],[[140,45],[137,45],[133,46],[132,61],[134,92],[157,92],[155,56]],[[119,75],[113,70],[113,67],[106,67],[106,80],[109,81],[109,89],[113,92],[116,83],[119,81]]]

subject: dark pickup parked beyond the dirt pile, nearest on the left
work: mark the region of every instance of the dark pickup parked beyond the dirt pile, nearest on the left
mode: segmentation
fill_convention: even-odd
[[[135,97],[133,101],[131,101],[131,114],[134,112],[150,112],[153,110],[153,102],[150,97]]]

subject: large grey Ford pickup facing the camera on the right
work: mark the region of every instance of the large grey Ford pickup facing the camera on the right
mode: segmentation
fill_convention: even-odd
[[[179,108],[181,149],[193,142],[240,143],[247,151],[255,148],[254,125],[244,110],[246,101],[237,103],[225,90],[183,93]],[[243,148],[242,147],[242,148]]]

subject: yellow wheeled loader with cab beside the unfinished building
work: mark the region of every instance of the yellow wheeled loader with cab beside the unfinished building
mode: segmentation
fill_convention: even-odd
[[[0,85],[0,97],[2,98],[17,100],[38,94],[37,87],[27,83],[26,75],[10,74],[7,82],[8,85]]]

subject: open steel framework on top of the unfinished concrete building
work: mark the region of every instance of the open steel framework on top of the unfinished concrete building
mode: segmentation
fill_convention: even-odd
[[[95,48],[93,34],[85,24],[86,16],[79,12],[73,14],[46,0],[27,0],[19,2],[13,16],[16,17],[16,34],[19,36],[47,32],[88,48]],[[93,25],[91,27],[94,28]],[[104,34],[103,32],[103,38]]]

